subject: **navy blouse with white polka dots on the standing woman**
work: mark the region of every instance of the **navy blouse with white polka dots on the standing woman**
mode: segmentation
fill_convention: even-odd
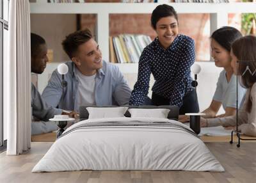
[[[141,53],[130,105],[143,105],[152,73],[156,80],[152,91],[170,99],[170,105],[182,106],[184,95],[193,90],[190,67],[194,62],[195,42],[188,36],[178,35],[166,50],[156,38]]]

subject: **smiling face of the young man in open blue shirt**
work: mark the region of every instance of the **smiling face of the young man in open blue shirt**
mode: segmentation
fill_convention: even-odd
[[[102,68],[102,53],[93,38],[79,45],[76,56],[72,58],[79,71],[85,76],[92,76]]]

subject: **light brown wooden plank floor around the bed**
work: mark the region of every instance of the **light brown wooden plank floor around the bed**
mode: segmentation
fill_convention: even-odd
[[[52,143],[32,143],[31,150],[18,156],[0,154],[0,182],[244,182],[255,183],[256,143],[205,143],[220,161],[225,172],[195,171],[65,171],[31,173],[33,166],[51,147]]]

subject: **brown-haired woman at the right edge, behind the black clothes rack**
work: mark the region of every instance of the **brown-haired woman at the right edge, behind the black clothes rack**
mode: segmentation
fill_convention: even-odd
[[[241,78],[241,84],[248,88],[244,104],[238,111],[238,130],[248,136],[256,136],[256,37],[244,36],[236,40],[232,44],[231,58],[234,74],[237,74]],[[201,127],[218,125],[234,128],[236,115],[224,118],[201,118]]]

